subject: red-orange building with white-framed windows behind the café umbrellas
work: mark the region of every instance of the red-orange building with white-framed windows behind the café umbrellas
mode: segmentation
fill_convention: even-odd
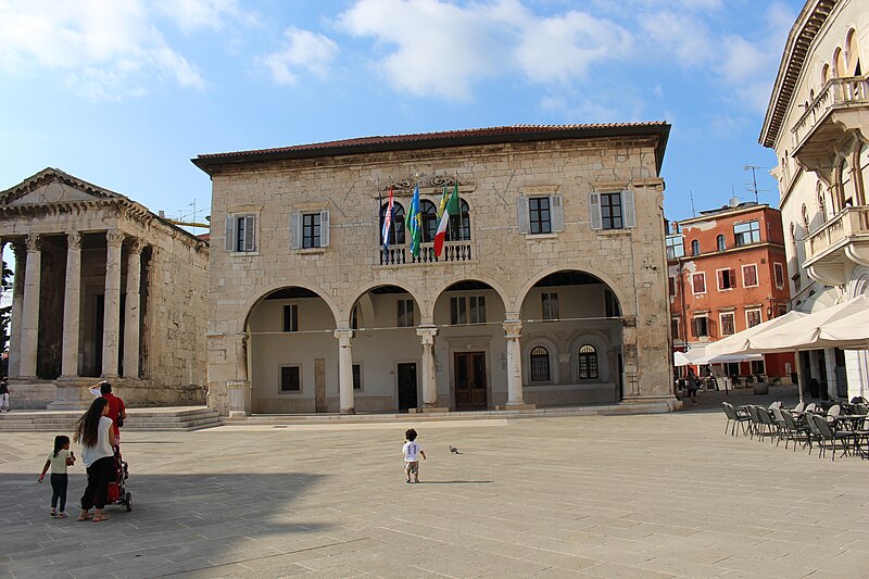
[[[739,203],[671,224],[667,236],[670,331],[675,351],[704,345],[780,316],[790,289],[781,212]],[[790,381],[792,354],[728,364],[728,376]]]

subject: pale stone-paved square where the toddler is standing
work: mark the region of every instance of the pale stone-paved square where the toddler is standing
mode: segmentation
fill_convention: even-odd
[[[49,517],[52,435],[5,432],[0,577],[869,576],[869,462],[731,438],[708,399],[414,426],[419,484],[403,424],[125,432],[134,511],[99,525]]]

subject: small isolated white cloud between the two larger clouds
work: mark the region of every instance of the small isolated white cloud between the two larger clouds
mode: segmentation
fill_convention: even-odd
[[[284,47],[261,59],[272,78],[280,85],[294,85],[299,80],[294,71],[300,68],[326,78],[338,45],[326,36],[298,28],[288,28],[284,35],[287,39]]]

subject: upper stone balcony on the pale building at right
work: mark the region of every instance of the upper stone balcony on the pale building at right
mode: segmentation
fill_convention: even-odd
[[[830,169],[835,141],[869,122],[869,75],[833,78],[791,129],[793,155],[809,171]]]

